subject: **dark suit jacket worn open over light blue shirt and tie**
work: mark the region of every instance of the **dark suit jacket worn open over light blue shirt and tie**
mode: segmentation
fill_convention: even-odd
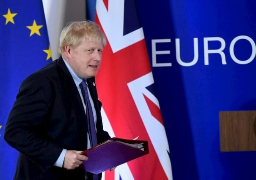
[[[94,78],[87,80],[97,114],[97,138],[102,129],[101,102]],[[79,92],[62,58],[33,73],[19,89],[8,116],[5,140],[19,150],[15,180],[84,180],[82,169],[53,166],[63,148],[87,149],[87,121]]]

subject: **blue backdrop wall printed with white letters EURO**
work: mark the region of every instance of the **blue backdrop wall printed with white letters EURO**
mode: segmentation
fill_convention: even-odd
[[[220,152],[219,112],[256,110],[256,2],[136,2],[173,179],[255,180],[255,152]]]

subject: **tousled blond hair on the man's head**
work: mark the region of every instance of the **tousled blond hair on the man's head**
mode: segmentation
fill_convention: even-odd
[[[84,39],[96,43],[102,40],[103,46],[106,45],[105,35],[95,22],[88,20],[74,21],[69,22],[61,32],[59,53],[62,54],[68,45],[77,48]]]

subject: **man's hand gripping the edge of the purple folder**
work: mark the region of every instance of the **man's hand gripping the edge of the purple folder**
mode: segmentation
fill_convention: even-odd
[[[77,150],[67,150],[63,162],[63,167],[66,169],[75,169],[79,167],[79,165],[82,164],[83,161],[87,161],[88,157],[79,154],[81,152],[82,151]]]

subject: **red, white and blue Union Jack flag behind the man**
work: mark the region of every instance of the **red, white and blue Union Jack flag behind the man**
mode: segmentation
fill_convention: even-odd
[[[154,93],[135,0],[97,0],[95,21],[107,37],[96,83],[104,128],[112,137],[149,142],[149,154],[106,171],[104,180],[172,180],[169,146]]]

